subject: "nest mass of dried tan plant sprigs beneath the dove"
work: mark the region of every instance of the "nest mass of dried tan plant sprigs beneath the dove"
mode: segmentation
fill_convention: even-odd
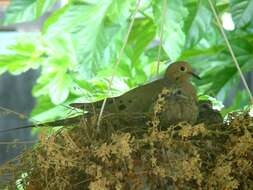
[[[253,118],[160,129],[145,114],[107,114],[40,135],[1,169],[1,189],[253,189]]]

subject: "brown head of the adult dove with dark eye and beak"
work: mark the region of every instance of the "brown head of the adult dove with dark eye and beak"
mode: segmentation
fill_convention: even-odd
[[[165,77],[175,83],[187,82],[191,76],[200,79],[198,75],[193,73],[189,63],[185,61],[177,61],[172,63],[169,65],[165,73]]]

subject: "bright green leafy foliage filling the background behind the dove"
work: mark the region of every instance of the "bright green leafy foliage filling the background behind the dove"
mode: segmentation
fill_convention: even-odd
[[[50,10],[55,0],[12,1],[3,24],[33,21]],[[252,0],[216,1],[216,9],[232,14],[235,29],[226,31],[242,70],[252,70]],[[166,6],[164,8],[164,6]],[[136,7],[134,0],[71,0],[51,14],[42,32],[17,39],[0,56],[0,72],[20,74],[40,68],[33,89],[35,120],[54,119],[67,113],[63,105],[108,95],[108,79],[119,56]],[[161,60],[189,61],[203,80],[199,94],[224,101],[239,83],[239,76],[205,0],[143,0],[110,95],[122,93],[155,75],[161,19],[164,40]],[[233,109],[244,106],[247,96],[235,92]],[[243,98],[243,103],[238,103]],[[231,109],[230,109],[231,110]]]

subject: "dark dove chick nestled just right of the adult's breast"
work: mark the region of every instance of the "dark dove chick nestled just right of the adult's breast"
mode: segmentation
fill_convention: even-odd
[[[213,109],[210,100],[200,100],[198,102],[199,116],[197,123],[205,123],[206,125],[221,124],[223,118],[218,110]]]

